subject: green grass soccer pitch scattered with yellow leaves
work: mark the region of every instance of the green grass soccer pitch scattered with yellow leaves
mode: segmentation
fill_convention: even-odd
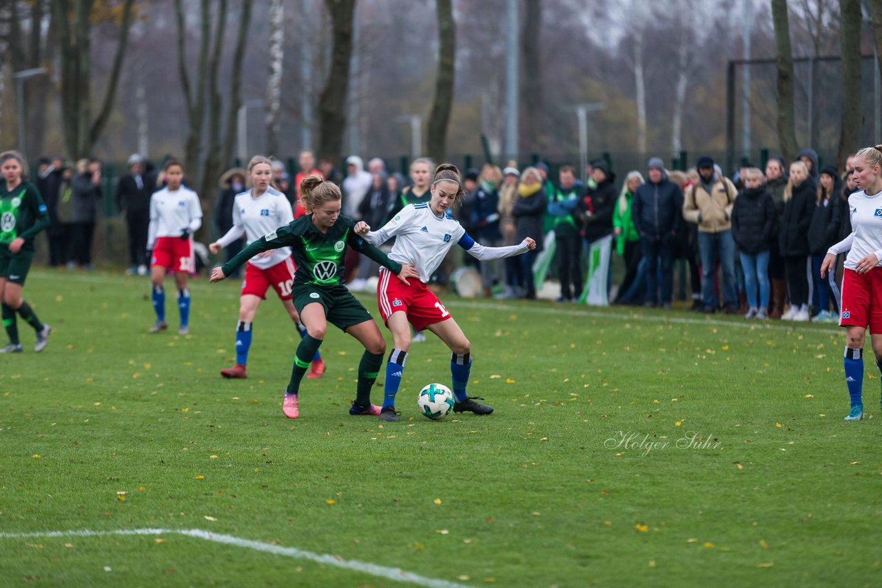
[[[361,351],[334,330],[282,416],[299,338],[273,298],[249,379],[222,380],[235,282],[193,284],[187,337],[174,294],[146,333],[143,278],[43,270],[25,292],[55,332],[34,354],[19,321],[26,353],[0,355],[0,584],[877,581],[879,423],[842,421],[833,325],[443,296],[496,413],[417,413],[450,380],[430,336],[384,425],[348,415]]]

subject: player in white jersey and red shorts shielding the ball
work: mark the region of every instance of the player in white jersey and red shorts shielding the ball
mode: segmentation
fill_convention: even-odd
[[[450,214],[451,206],[464,194],[460,170],[456,166],[450,163],[438,166],[430,191],[428,203],[405,206],[385,227],[377,231],[370,232],[370,227],[364,222],[355,225],[355,233],[363,235],[364,240],[372,245],[379,245],[395,237],[390,259],[400,264],[413,264],[420,276],[420,281],[412,280],[406,285],[400,280],[390,279],[391,272],[380,270],[377,305],[386,326],[392,331],[395,344],[386,364],[381,421],[398,421],[395,394],[401,383],[407,350],[411,343],[408,321],[414,325],[415,331],[428,328],[450,347],[452,388],[456,396],[453,411],[475,414],[493,412],[491,406],[475,402],[477,397],[469,398],[466,386],[472,368],[469,356],[471,344],[460,325],[456,324],[437,296],[426,287],[426,283],[454,244],[482,261],[520,255],[536,246],[534,240],[527,237],[518,245],[510,247],[483,247],[468,236],[466,230]]]

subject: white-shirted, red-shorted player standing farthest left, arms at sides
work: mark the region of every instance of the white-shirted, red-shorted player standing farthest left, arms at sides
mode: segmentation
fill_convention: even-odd
[[[162,168],[166,187],[150,197],[150,227],[147,229],[147,251],[150,258],[150,281],[153,285],[153,310],[156,324],[150,332],[168,329],[165,320],[165,290],[162,281],[169,270],[175,272],[177,308],[181,316],[178,333],[190,332],[190,289],[187,277],[196,270],[193,257],[193,233],[202,226],[202,206],[193,190],[182,185],[183,166],[168,160]]]

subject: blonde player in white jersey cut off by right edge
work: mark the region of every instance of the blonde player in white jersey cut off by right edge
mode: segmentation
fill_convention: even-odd
[[[821,278],[835,271],[836,256],[848,250],[839,320],[846,328],[843,364],[851,401],[846,421],[863,419],[863,341],[868,326],[876,366],[882,373],[882,145],[861,149],[853,165],[852,176],[860,191],[848,197],[852,233],[827,249],[820,270]]]

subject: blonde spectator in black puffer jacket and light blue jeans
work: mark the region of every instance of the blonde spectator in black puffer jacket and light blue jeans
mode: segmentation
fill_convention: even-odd
[[[769,249],[771,235],[778,224],[772,193],[766,190],[765,178],[757,167],[744,170],[744,190],[732,207],[732,237],[738,247],[744,270],[744,289],[750,305],[744,318],[768,318]],[[759,288],[759,299],[757,289]]]

